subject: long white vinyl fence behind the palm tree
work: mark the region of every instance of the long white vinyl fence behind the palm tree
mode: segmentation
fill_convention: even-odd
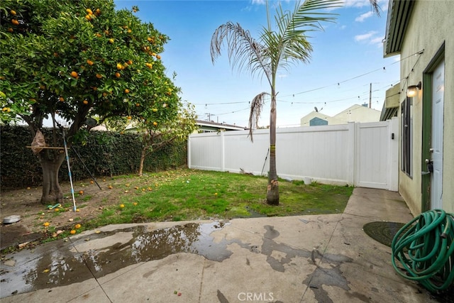
[[[189,136],[188,167],[267,175],[270,133],[221,131]],[[334,126],[277,128],[277,175],[285,179],[397,191],[398,119]]]

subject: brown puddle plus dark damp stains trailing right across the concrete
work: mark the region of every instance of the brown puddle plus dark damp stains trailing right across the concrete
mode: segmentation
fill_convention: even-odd
[[[0,297],[103,277],[129,265],[160,260],[175,253],[194,253],[208,260],[222,262],[231,257],[232,252],[227,246],[232,243],[252,253],[265,255],[270,267],[278,272],[284,272],[288,266],[296,265],[292,260],[298,257],[306,258],[314,265],[316,259],[328,263],[328,268],[316,265],[314,272],[308,272],[306,280],[303,281],[314,290],[319,302],[331,302],[322,285],[350,290],[348,281],[339,269],[342,263],[351,262],[350,258],[328,253],[321,255],[317,250],[308,251],[278,243],[275,238],[279,236],[279,231],[269,225],[263,226],[265,235],[262,238],[262,246],[243,243],[239,239],[223,238],[214,242],[211,233],[221,230],[223,226],[225,224],[221,222],[191,223],[155,231],[148,231],[146,226],[134,226],[83,236],[74,243],[63,241],[48,243],[38,246],[34,253],[21,251],[13,255],[15,263],[1,264]],[[118,239],[123,242],[119,242]],[[104,246],[94,249],[99,247],[100,243]],[[221,300],[221,297],[222,294],[218,293],[218,299]]]

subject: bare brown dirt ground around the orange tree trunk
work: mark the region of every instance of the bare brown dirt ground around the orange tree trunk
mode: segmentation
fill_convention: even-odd
[[[101,189],[91,180],[74,182],[75,202],[79,211],[74,211],[70,182],[60,184],[65,199],[58,211],[48,209],[48,205],[40,203],[42,187],[1,192],[1,249],[47,238],[56,231],[70,230],[75,224],[99,216],[106,206],[118,204],[119,197],[128,190],[125,184],[133,183],[134,180],[134,177],[128,180],[97,180]],[[79,193],[80,191],[83,191],[83,194]],[[4,218],[13,215],[21,216],[21,221],[3,223]],[[45,222],[49,222],[48,227],[43,226]]]

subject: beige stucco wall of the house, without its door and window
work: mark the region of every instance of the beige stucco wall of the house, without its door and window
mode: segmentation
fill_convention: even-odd
[[[416,1],[401,50],[401,98],[423,81],[423,71],[445,43],[443,209],[454,212],[454,18],[453,1]],[[412,55],[423,50],[421,55]],[[431,83],[423,83],[429,87]],[[426,101],[426,100],[425,100]],[[416,216],[421,212],[422,92],[413,98],[413,174],[399,174],[399,192]],[[399,109],[400,111],[400,109]],[[400,112],[399,112],[400,114]],[[402,125],[401,125],[402,127]],[[402,148],[402,145],[401,145]]]

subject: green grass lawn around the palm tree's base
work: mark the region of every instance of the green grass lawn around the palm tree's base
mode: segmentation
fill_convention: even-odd
[[[336,214],[345,209],[353,192],[353,187],[280,180],[279,206],[270,206],[265,200],[267,177],[182,169],[114,179],[128,194],[86,222],[85,228],[146,221]]]

